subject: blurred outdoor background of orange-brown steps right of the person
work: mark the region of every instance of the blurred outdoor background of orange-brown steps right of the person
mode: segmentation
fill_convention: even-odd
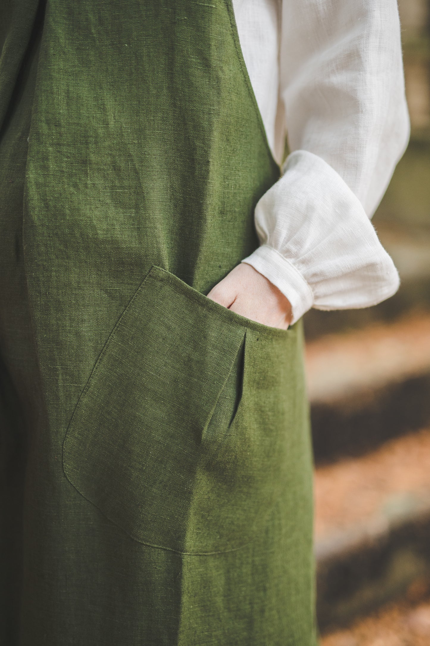
[[[430,645],[430,0],[399,0],[411,141],[373,223],[376,307],[305,316],[322,646]]]

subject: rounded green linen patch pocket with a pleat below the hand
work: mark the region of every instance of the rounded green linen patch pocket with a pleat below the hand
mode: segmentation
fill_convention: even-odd
[[[248,543],[282,486],[276,366],[294,338],[152,267],[77,403],[64,474],[147,545],[212,554]]]

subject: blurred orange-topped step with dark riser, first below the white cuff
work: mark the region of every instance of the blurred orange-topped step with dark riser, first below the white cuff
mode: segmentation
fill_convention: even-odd
[[[306,345],[317,464],[430,424],[430,313]]]

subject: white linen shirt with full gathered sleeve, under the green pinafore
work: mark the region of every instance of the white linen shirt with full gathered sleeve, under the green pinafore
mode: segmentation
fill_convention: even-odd
[[[409,140],[396,0],[233,0],[273,157],[246,262],[291,302],[375,305],[399,277],[370,218]]]

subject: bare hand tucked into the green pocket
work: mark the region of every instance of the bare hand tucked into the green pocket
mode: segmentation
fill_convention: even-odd
[[[271,328],[287,329],[293,317],[288,298],[266,276],[244,262],[212,287],[208,298]]]

